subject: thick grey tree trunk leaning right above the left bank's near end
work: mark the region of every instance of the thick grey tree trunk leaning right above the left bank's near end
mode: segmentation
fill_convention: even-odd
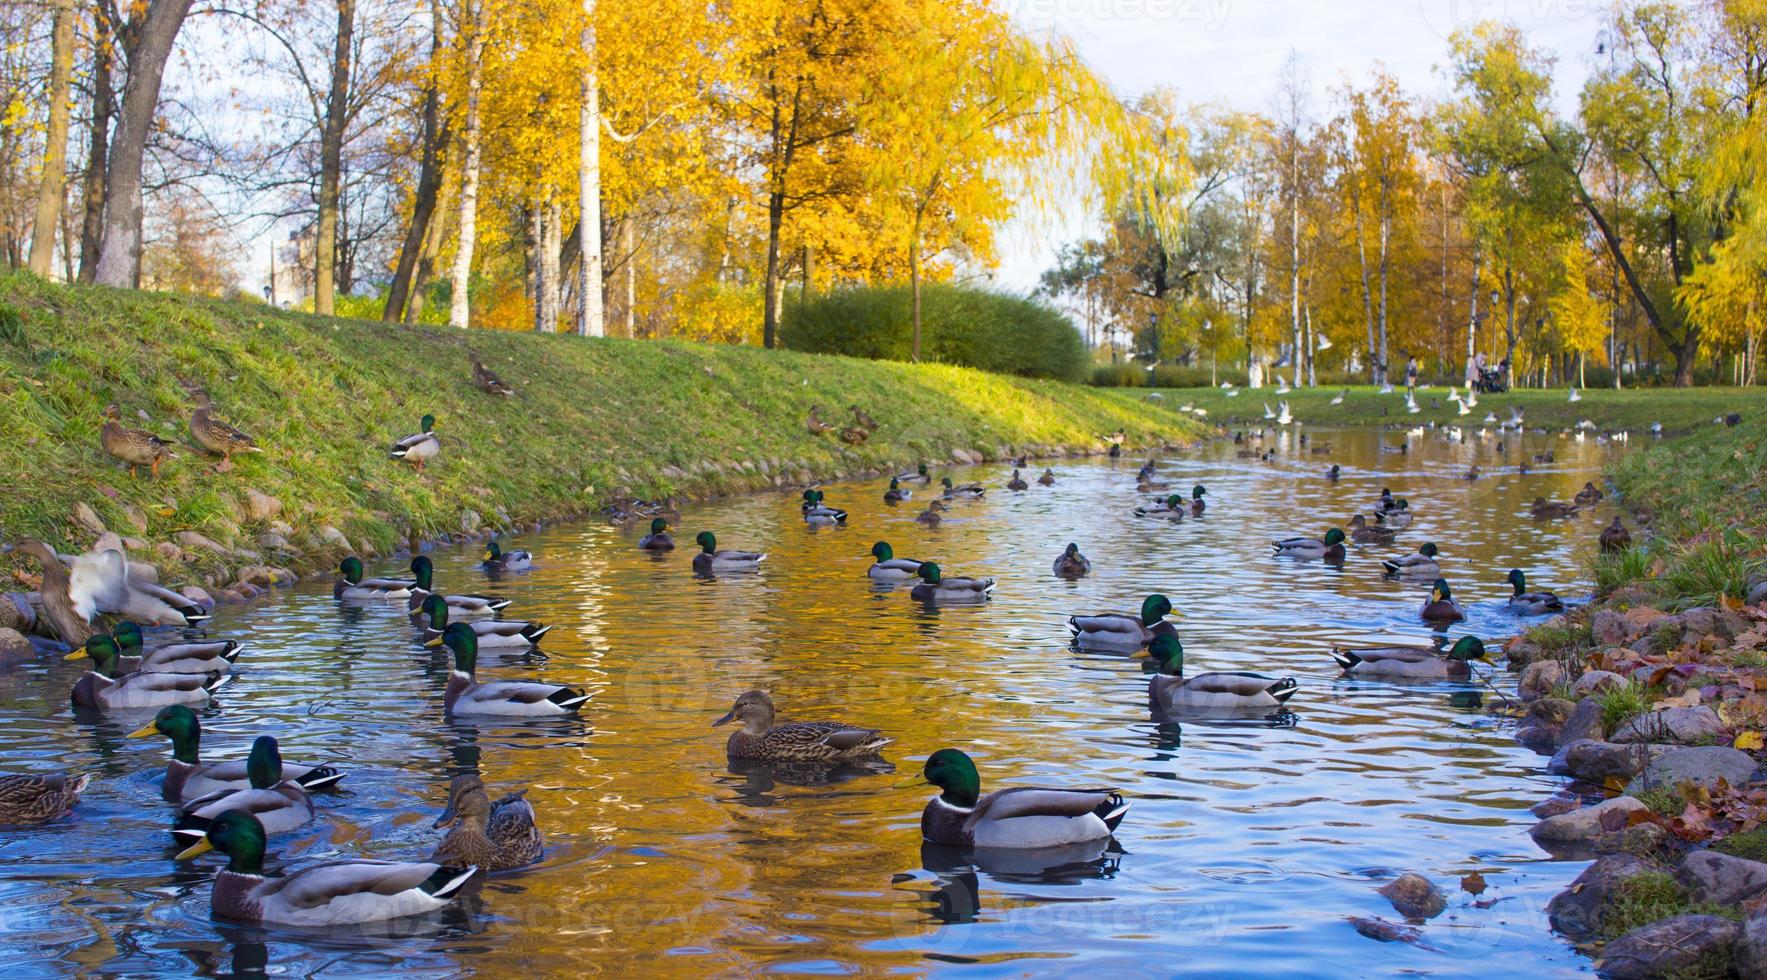
[[[122,87],[122,111],[110,147],[104,175],[104,238],[94,281],[101,286],[133,286],[141,261],[141,161],[147,134],[159,111],[159,83],[166,76],[171,42],[191,12],[191,0],[148,0],[127,53],[129,79]]]

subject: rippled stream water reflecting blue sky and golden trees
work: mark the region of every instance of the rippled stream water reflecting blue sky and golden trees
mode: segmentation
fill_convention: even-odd
[[[313,583],[223,609],[210,632],[251,650],[203,712],[205,758],[242,756],[269,733],[288,759],[350,772],[339,793],[315,796],[320,821],[272,839],[272,867],[421,860],[458,772],[482,773],[493,795],[532,788],[541,867],[493,878],[459,908],[364,931],[210,922],[219,862],[171,860],[159,798],[168,743],[124,738],[145,715],[74,719],[76,664],[0,673],[0,772],[97,773],[74,818],[0,832],[0,925],[12,938],[0,973],[1474,975],[1491,954],[1583,971],[1543,911],[1583,865],[1550,860],[1527,835],[1528,807],[1557,780],[1514,743],[1513,722],[1486,712],[1491,690],[1345,682],[1325,650],[1426,636],[1424,590],[1382,581],[1376,563],[1422,540],[1442,547],[1470,607],[1463,627],[1481,636],[1514,632],[1502,609],[1511,567],[1539,588],[1587,592],[1580,569],[1603,512],[1536,523],[1527,503],[1569,498],[1606,450],[1509,436],[1498,456],[1495,440],[1437,434],[1410,440],[1407,456],[1378,449],[1401,441],[1313,433],[1329,454],[1285,438],[1269,443],[1276,463],[1230,443],[1166,457],[1175,487],[1209,487],[1207,517],[1177,526],[1129,516],[1140,459],[1122,459],[1062,463],[1055,487],[1021,494],[1004,489],[1002,468],[958,471],[993,489],[954,503],[940,528],[914,523],[924,489],[889,509],[871,482],[829,487],[852,512],[843,530],[806,530],[793,496],[769,494],[689,509],[684,547],[663,558],[633,547],[641,528],[571,526],[516,540],[537,553],[535,569],[488,584],[477,549],[438,551],[444,588],[495,590],[514,599],[511,613],[558,625],[548,657],[488,652],[481,676],[587,687],[580,720],[447,724],[445,659],[413,643],[403,604],[339,607]],[[1514,471],[1548,445],[1557,464]],[[1332,461],[1338,484],[1320,477]],[[1493,475],[1461,480],[1474,461]],[[1354,546],[1341,570],[1269,556],[1269,539],[1323,533],[1382,486],[1417,512],[1399,546]],[[769,551],[765,570],[694,579],[700,528],[724,547]],[[926,611],[906,590],[873,588],[876,539],[947,574],[997,576],[995,600]],[[1050,574],[1069,540],[1094,563],[1078,583]],[[1156,724],[1145,659],[1069,650],[1069,613],[1134,609],[1150,590],[1184,614],[1191,671],[1295,676],[1292,726]],[[820,784],[733,772],[728,729],[709,724],[751,687],[774,692],[783,720],[885,729],[898,772]],[[945,745],[977,759],[984,791],[1104,784],[1134,807],[1108,851],[974,867],[922,849],[926,788],[892,788]],[[1449,911],[1422,929],[1431,948],[1376,943],[1346,922],[1396,920],[1375,888],[1405,871],[1449,890]],[[1468,872],[1488,885],[1477,897],[1456,888]]]

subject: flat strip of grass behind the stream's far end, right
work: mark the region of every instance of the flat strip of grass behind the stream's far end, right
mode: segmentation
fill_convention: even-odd
[[[1119,397],[1143,399],[1149,388],[1113,388]],[[1523,388],[1502,396],[1479,396],[1479,404],[1470,415],[1458,415],[1454,403],[1447,401],[1445,387],[1430,387],[1417,392],[1421,411],[1410,415],[1405,410],[1405,388],[1394,394],[1378,394],[1371,385],[1348,388],[1295,388],[1278,396],[1276,388],[1260,390],[1240,388],[1237,397],[1228,397],[1219,388],[1159,388],[1159,403],[1175,408],[1193,404],[1209,411],[1209,422],[1221,426],[1260,426],[1263,424],[1263,406],[1278,408],[1278,401],[1286,401],[1295,418],[1308,426],[1385,426],[1407,424],[1472,424],[1479,426],[1486,413],[1495,413],[1500,420],[1509,418],[1509,408],[1521,408],[1528,426],[1548,429],[1566,429],[1589,420],[1604,431],[1631,429],[1647,431],[1652,422],[1661,422],[1670,433],[1700,431],[1712,426],[1712,418],[1740,411],[1744,417],[1767,413],[1767,388],[1594,388],[1580,392],[1583,401],[1571,403],[1564,388]],[[1343,394],[1341,404],[1331,399]]]

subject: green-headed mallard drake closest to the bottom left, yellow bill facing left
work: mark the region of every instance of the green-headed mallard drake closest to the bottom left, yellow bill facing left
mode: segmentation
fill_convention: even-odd
[[[210,849],[228,856],[216,874],[209,908],[219,918],[322,927],[422,915],[447,906],[479,872],[475,867],[394,862],[322,862],[283,878],[263,874],[263,825],[244,810],[217,816],[178,860]]]

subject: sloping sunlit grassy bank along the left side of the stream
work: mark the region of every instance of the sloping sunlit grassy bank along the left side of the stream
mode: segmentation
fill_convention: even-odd
[[[518,388],[472,387],[479,355]],[[187,441],[191,401],[265,452],[217,471],[194,449],[152,480],[131,480],[99,447],[101,411]],[[1187,417],[1110,392],[841,357],[648,341],[389,327],[191,297],[69,288],[0,274],[0,537],[85,546],[78,505],[148,546],[178,531],[260,551],[281,533],[316,567],[343,542],[387,551],[477,521],[511,524],[588,512],[631,496],[707,496],[864,471],[988,457],[1184,441]],[[806,413],[876,422],[864,445],[811,434]],[[147,420],[141,420],[145,413]],[[435,413],[444,450],[428,473],[387,449]],[[247,493],[281,501],[254,519]],[[286,526],[281,526],[286,524]],[[155,547],[163,558],[239,565],[246,553]],[[265,553],[265,560],[272,554]],[[217,576],[209,569],[210,577]],[[224,581],[224,576],[219,576]]]

